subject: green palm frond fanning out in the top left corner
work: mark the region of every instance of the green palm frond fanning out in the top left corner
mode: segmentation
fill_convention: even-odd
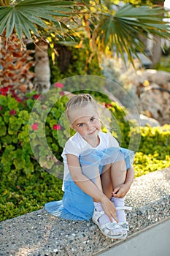
[[[31,38],[31,31],[38,36],[37,26],[47,28],[49,23],[58,18],[69,17],[73,12],[74,1],[23,0],[0,7],[0,34],[6,29],[8,38],[15,29],[19,39],[23,34]]]

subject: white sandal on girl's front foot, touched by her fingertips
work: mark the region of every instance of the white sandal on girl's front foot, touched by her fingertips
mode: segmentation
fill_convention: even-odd
[[[120,227],[120,225],[117,222],[115,222],[115,223],[109,222],[109,223],[106,223],[104,225],[100,225],[98,219],[104,214],[105,214],[104,211],[96,211],[96,209],[95,209],[94,212],[93,212],[93,217],[92,217],[93,222],[101,230],[101,233],[103,233],[104,236],[107,236],[107,237],[112,238],[112,239],[122,238],[123,237],[122,227]],[[109,235],[109,232],[114,230],[114,229],[120,229],[121,230],[120,234],[118,234],[118,235]]]

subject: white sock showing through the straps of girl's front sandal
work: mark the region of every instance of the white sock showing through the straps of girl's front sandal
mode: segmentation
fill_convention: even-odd
[[[96,208],[96,211],[104,211],[100,202],[98,202],[98,203],[94,202],[94,206]],[[113,220],[113,223],[117,223],[114,218],[112,218],[112,220]],[[98,222],[100,223],[100,225],[104,225],[104,224],[109,223],[110,220],[109,220],[109,217],[107,216],[107,214],[103,214],[98,219]],[[120,235],[120,234],[122,234],[121,227],[120,228],[115,228],[114,230],[110,230],[110,232],[109,232],[109,235],[111,235],[111,236],[117,236],[117,235]]]

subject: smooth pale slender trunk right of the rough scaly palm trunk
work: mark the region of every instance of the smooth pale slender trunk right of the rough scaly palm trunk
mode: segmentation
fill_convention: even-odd
[[[48,43],[39,40],[35,48],[34,90],[39,93],[50,88],[50,63],[48,58]]]

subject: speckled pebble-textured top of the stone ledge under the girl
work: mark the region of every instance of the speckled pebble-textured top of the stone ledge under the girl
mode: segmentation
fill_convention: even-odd
[[[125,198],[129,235],[170,215],[170,168],[136,178]],[[117,244],[89,222],[72,222],[47,214],[45,209],[0,223],[1,256],[97,255]]]

